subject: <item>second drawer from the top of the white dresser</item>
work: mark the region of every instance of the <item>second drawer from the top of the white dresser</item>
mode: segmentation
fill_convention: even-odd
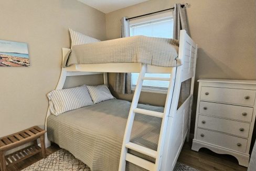
[[[200,101],[199,113],[251,122],[253,108]]]

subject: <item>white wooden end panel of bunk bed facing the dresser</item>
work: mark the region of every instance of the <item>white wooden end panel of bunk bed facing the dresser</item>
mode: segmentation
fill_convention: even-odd
[[[183,65],[177,67],[174,95],[170,107],[166,140],[161,170],[173,170],[179,153],[186,138],[189,139],[189,127],[191,118],[191,107],[193,103],[193,90],[196,71],[196,49],[197,45],[187,35],[185,30],[180,31],[179,59]],[[194,55],[195,54],[195,55]],[[186,101],[178,107],[180,88],[183,81],[191,78],[190,95]]]

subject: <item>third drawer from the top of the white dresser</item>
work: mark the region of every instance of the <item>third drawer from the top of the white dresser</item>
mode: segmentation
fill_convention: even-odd
[[[198,115],[198,127],[208,130],[219,131],[232,135],[248,138],[250,124],[238,121],[220,119],[217,117]]]

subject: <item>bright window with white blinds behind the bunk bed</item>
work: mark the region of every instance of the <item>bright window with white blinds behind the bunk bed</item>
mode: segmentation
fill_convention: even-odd
[[[132,20],[130,22],[131,36],[143,35],[150,37],[173,38],[172,13],[163,13],[151,17]],[[132,89],[136,87],[139,73],[132,73]],[[145,77],[169,78],[168,73],[146,73]],[[142,91],[166,93],[169,81],[144,80]]]

